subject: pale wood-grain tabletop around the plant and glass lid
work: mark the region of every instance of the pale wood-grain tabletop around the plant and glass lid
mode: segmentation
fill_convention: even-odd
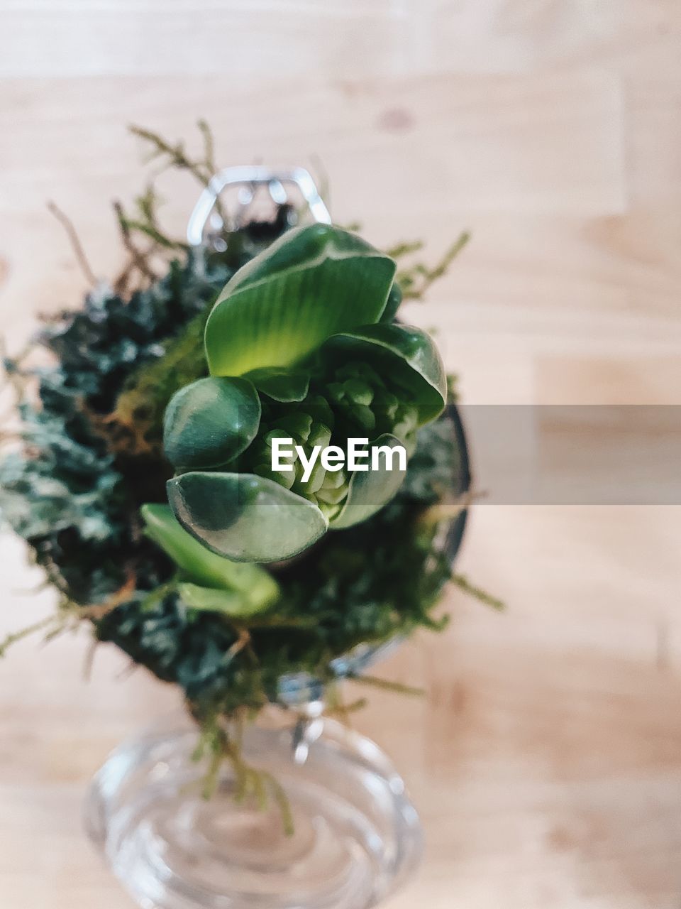
[[[142,179],[125,126],[214,127],[222,164],[321,161],[376,244],[473,242],[427,303],[477,404],[681,404],[677,0],[0,0],[0,318],[10,350],[121,261],[109,204]],[[163,184],[182,229],[195,187]],[[475,440],[473,440],[475,445]],[[503,440],[500,441],[503,445]],[[0,540],[0,633],[51,608]],[[479,504],[446,634],[382,671],[358,719],[428,838],[386,909],[681,904],[681,507]],[[84,789],[173,691],[87,636],[0,664],[0,905],[124,909]]]

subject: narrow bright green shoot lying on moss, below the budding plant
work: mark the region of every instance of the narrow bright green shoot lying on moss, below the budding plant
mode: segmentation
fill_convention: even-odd
[[[193,584],[236,592],[258,607],[279,595],[279,584],[265,568],[212,553],[184,530],[170,505],[146,504],[140,512],[145,536],[161,546]]]

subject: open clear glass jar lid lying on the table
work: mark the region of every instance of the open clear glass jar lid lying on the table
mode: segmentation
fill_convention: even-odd
[[[279,781],[294,832],[269,800],[237,804],[223,762],[202,797],[197,728],[173,718],[123,744],[86,804],[94,843],[143,909],[367,909],[419,863],[419,817],[379,747],[315,716],[294,728],[255,725],[244,759]]]

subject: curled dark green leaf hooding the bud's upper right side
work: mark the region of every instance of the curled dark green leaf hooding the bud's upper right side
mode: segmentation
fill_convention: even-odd
[[[419,409],[419,425],[444,410],[447,374],[430,335],[414,325],[365,325],[329,338],[321,356],[342,362],[364,360],[384,377],[392,378]]]

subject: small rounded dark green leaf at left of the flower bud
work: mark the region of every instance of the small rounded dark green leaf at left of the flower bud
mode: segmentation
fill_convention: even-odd
[[[177,470],[220,467],[251,445],[260,416],[260,398],[248,379],[199,379],[166,408],[165,456]]]

